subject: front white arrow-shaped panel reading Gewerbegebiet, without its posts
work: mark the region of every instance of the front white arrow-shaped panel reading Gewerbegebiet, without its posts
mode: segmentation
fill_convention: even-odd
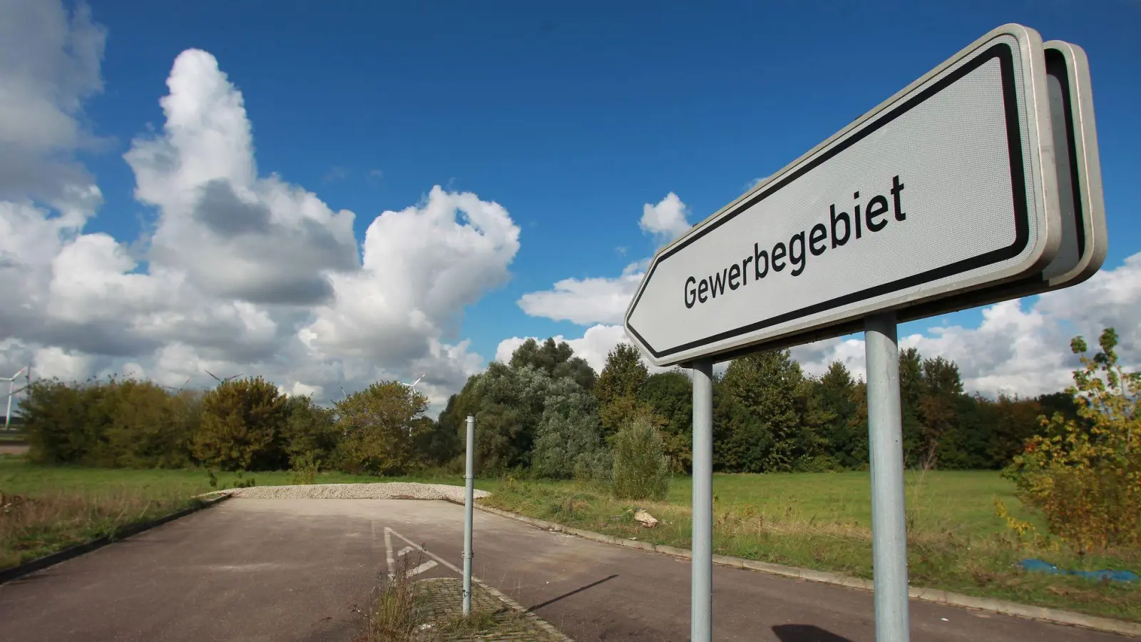
[[[1042,40],[1004,25],[663,248],[625,328],[656,366],[723,358],[1041,274],[1061,243]]]

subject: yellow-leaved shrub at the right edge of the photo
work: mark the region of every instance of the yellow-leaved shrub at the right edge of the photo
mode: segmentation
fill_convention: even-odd
[[[1027,440],[1003,472],[1050,531],[1079,553],[1141,544],[1141,375],[1118,364],[1112,328],[1099,344],[1090,359],[1082,337],[1070,343],[1083,368],[1069,392],[1086,422],[1043,417],[1045,434]]]

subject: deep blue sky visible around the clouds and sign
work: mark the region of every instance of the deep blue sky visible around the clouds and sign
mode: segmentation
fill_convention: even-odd
[[[153,224],[156,208],[136,200],[123,154],[148,125],[162,129],[175,58],[203,49],[244,97],[259,175],[355,212],[358,241],[381,211],[413,206],[434,185],[510,212],[520,230],[510,280],[444,337],[470,338],[489,359],[508,337],[582,337],[592,323],[532,316],[517,300],[563,279],[613,279],[650,256],[657,243],[638,224],[646,203],[672,192],[696,223],[988,30],[1018,22],[1086,49],[1110,233],[1102,270],[1141,249],[1130,187],[1141,3],[408,5],[140,10],[92,0],[106,29],[103,87],[75,118],[107,141],[74,151],[103,193],[83,232],[130,243],[140,222]],[[144,256],[135,271],[147,270]],[[974,310],[900,334],[982,321]]]

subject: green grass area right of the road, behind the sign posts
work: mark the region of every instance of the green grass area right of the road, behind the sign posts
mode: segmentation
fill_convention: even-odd
[[[616,537],[690,546],[689,480],[665,503],[612,499],[572,483],[500,484],[483,504]],[[867,473],[714,475],[713,552],[748,560],[872,577]],[[997,597],[1141,621],[1141,586],[1023,571],[1039,557],[1061,568],[1141,572],[1141,551],[1084,557],[1020,541],[994,514],[1002,499],[1029,519],[997,473],[929,472],[908,478],[908,563],[913,586]],[[642,528],[634,508],[659,520]]]

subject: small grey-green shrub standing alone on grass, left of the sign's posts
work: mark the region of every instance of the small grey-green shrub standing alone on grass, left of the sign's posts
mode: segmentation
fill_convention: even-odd
[[[614,435],[612,490],[620,499],[665,499],[670,459],[653,418],[634,417]]]

